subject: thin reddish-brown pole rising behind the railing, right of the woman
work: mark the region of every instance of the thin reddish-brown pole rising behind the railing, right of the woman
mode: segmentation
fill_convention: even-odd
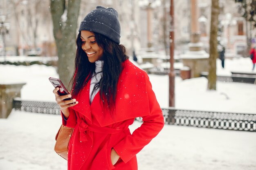
[[[171,0],[170,6],[170,73],[169,73],[169,107],[175,106],[175,73],[174,73],[174,7],[173,1]]]

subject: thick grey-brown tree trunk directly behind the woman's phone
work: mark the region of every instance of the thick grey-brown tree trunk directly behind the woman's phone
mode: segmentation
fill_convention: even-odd
[[[53,32],[58,50],[58,74],[66,87],[74,72],[80,3],[81,0],[68,0],[67,3],[65,0],[51,0]],[[67,19],[63,20],[65,17]]]

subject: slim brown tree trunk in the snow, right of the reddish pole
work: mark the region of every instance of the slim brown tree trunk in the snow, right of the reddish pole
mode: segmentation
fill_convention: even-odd
[[[211,0],[211,32],[210,32],[210,56],[209,56],[209,75],[208,89],[216,90],[216,59],[217,51],[217,33],[218,33],[218,15],[219,15],[219,0]]]

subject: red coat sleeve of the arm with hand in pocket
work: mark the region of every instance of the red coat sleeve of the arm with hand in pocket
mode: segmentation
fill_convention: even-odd
[[[114,147],[117,154],[125,163],[132,159],[132,157],[156,137],[164,126],[162,110],[152,90],[149,77],[147,74],[145,75],[150,113],[142,117],[143,124],[137,128],[132,135],[126,136]]]

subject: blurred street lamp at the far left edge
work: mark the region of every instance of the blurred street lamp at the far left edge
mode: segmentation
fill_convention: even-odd
[[[5,22],[5,19],[5,15],[0,15],[0,34],[2,35],[3,40],[4,64],[6,64],[5,34],[8,34],[10,29],[10,23]]]

